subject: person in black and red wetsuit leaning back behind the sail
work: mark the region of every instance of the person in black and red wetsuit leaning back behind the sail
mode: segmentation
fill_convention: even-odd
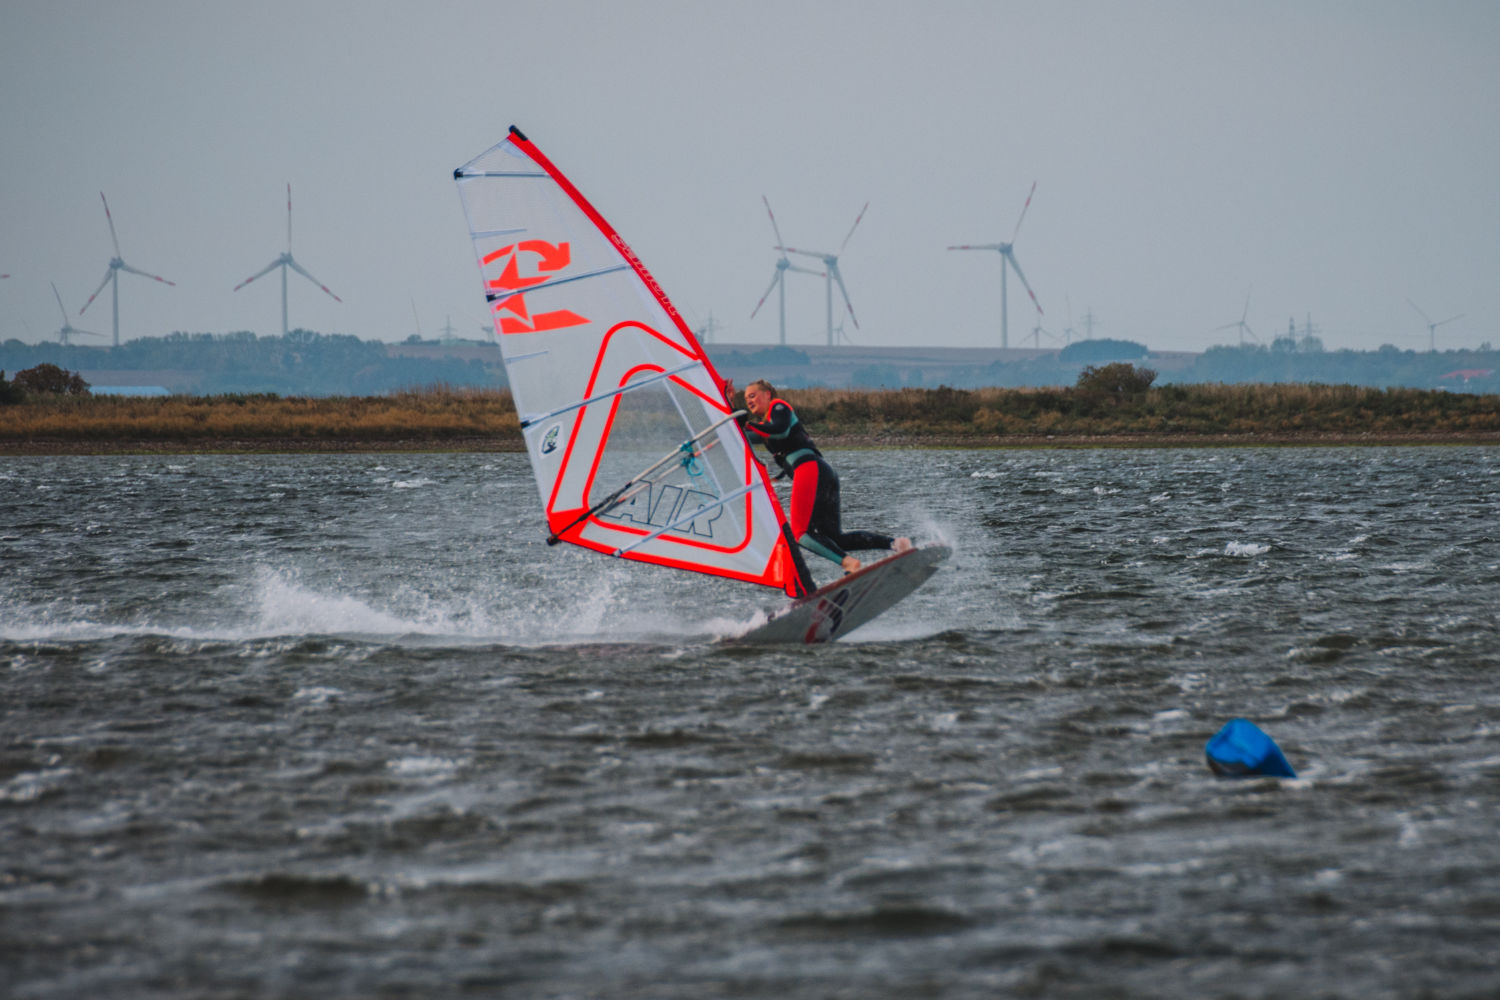
[[[734,381],[724,379],[724,399],[732,399],[734,394]],[[854,573],[862,564],[849,555],[849,549],[906,552],[912,547],[910,538],[842,529],[838,474],[813,444],[792,405],[777,399],[771,382],[758,379],[746,387],[746,409],[748,415],[741,417],[740,424],[752,433],[750,439],[765,445],[782,466],[777,478],[792,477],[789,520],[792,537],[804,549],[837,562],[844,573]]]

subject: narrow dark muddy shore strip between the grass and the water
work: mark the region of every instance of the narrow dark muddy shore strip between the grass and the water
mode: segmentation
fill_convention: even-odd
[[[956,448],[969,451],[1046,448],[1296,448],[1296,447],[1420,447],[1500,445],[1500,433],[1254,433],[1254,435],[819,435],[819,447],[836,453],[858,448]],[[26,456],[153,456],[153,454],[442,454],[522,453],[512,436],[474,438],[117,438],[0,439],[0,457]]]

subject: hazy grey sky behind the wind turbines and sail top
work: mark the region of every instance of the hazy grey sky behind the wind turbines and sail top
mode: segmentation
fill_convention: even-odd
[[[1060,334],[1203,349],[1311,315],[1329,348],[1500,343],[1500,4],[10,0],[0,339],[480,336],[452,171],[520,126],[690,319],[772,343],[760,196],[837,250],[867,345],[999,343],[1010,240]],[[788,339],[825,337],[796,276]],[[1011,343],[1036,313],[1011,279]],[[837,291],[836,291],[837,295]],[[416,303],[416,315],[412,310]],[[1046,342],[1044,342],[1046,343]]]

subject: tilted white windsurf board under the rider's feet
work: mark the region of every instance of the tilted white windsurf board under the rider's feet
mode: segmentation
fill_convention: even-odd
[[[927,582],[952,555],[948,546],[897,552],[819,588],[771,621],[728,642],[832,642],[852,633]]]

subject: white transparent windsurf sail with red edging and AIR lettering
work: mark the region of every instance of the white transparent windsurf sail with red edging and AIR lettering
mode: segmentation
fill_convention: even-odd
[[[514,127],[453,177],[549,541],[802,594],[718,373],[630,246]]]

